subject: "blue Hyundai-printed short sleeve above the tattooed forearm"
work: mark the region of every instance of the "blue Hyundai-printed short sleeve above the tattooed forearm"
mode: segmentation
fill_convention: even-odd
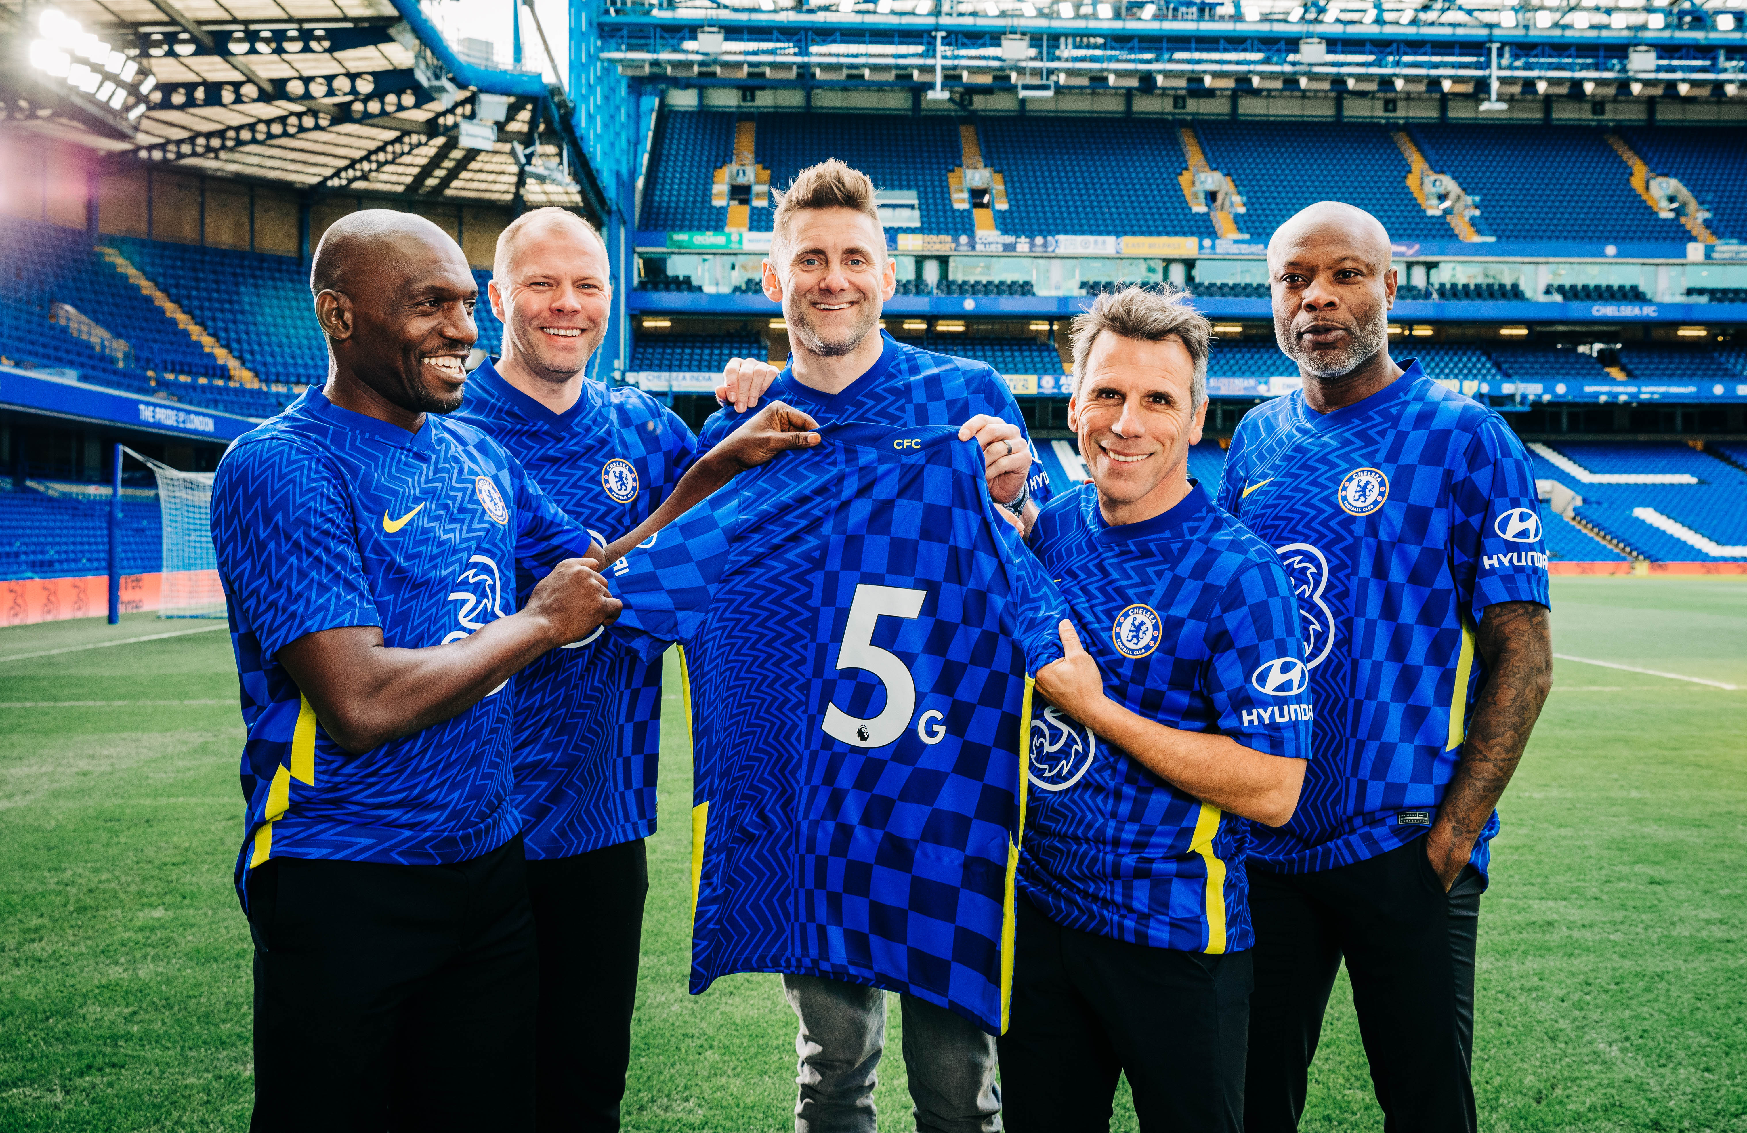
[[[1480,624],[1488,605],[1548,596],[1546,535],[1534,465],[1504,421],[1488,416],[1450,481],[1450,572]]]

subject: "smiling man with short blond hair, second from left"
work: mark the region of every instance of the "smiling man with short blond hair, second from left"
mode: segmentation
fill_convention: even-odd
[[[697,456],[692,430],[636,388],[585,376],[606,336],[606,245],[582,217],[538,208],[498,236],[489,287],[503,351],[454,416],[503,444],[601,546],[655,512]],[[756,402],[776,371],[728,364]],[[533,577],[515,579],[526,593]],[[655,831],[662,666],[611,635],[552,650],[515,677],[515,806],[540,937],[536,1116],[542,1130],[618,1130]]]

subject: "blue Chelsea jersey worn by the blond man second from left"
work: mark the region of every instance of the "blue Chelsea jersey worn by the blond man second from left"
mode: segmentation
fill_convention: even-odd
[[[603,547],[660,507],[697,453],[692,430],[641,390],[583,379],[577,404],[552,413],[489,360],[452,416],[503,444]],[[519,575],[522,598],[531,584]],[[655,832],[660,675],[659,657],[603,633],[515,675],[515,808],[529,858]]]

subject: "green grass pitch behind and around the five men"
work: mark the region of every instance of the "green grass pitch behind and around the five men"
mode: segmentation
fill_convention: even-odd
[[[1504,797],[1480,923],[1481,1126],[1747,1131],[1747,580],[1555,580],[1560,661]],[[250,948],[231,892],[241,726],[225,635],[0,629],[0,1128],[243,1130]],[[669,710],[673,698],[669,670]],[[669,750],[683,748],[667,715]],[[625,1128],[786,1130],[774,976],[685,991],[688,768],[662,768]],[[1380,1130],[1345,984],[1307,1130]],[[884,1130],[910,1130],[891,1047]],[[1134,1130],[1120,1100],[1113,1130]]]

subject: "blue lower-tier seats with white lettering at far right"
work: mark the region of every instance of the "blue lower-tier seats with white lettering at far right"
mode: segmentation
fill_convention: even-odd
[[[1656,561],[1747,561],[1747,472],[1740,467],[1684,444],[1529,448],[1536,479],[1581,495],[1578,516],[1633,551]],[[1689,483],[1654,483],[1668,479]],[[1668,521],[1691,535],[1672,533]]]

